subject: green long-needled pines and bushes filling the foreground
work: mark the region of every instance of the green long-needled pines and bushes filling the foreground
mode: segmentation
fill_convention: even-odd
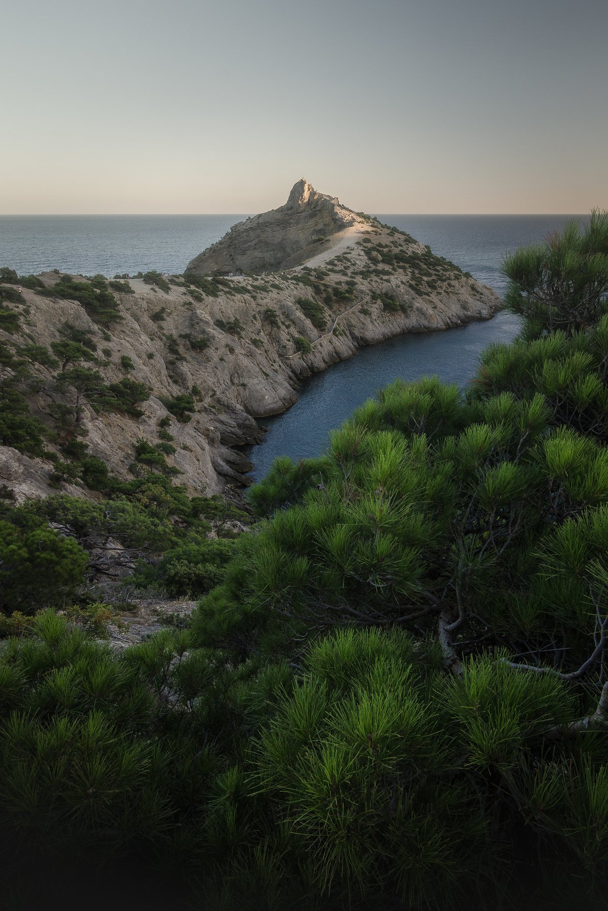
[[[163,861],[223,907],[601,908],[607,263],[601,213],[507,258],[521,336],[277,460],[252,532],[209,537],[164,438],[99,501],[3,506],[9,854]],[[110,534],[202,596],[187,629],[117,653],[57,612]]]

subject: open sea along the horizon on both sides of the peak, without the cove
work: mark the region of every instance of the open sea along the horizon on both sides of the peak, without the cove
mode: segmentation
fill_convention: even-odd
[[[567,215],[380,215],[502,292],[505,252],[539,241]],[[580,216],[586,219],[586,216]],[[0,266],[113,276],[187,263],[247,215],[3,215]]]

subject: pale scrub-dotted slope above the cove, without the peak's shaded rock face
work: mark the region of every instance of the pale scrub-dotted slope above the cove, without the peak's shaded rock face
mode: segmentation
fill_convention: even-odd
[[[316,196],[323,208],[329,197]],[[278,210],[281,222],[286,209]],[[487,319],[500,306],[491,289],[408,235],[375,220],[363,220],[354,230],[360,233],[350,236],[340,252],[329,252],[322,264],[318,255],[311,260],[314,268],[238,279],[187,274],[187,281],[165,282],[166,290],[162,281],[155,286],[132,280],[133,293],[114,291],[122,319],[101,325],[81,303],[52,296],[50,289],[61,287],[60,277],[44,273],[49,291],[23,288],[20,299],[0,302],[0,309],[17,314],[9,317],[8,329],[0,321],[2,384],[25,395],[31,415],[50,433],[47,451],[64,462],[69,457],[57,414],[73,408],[78,398],[80,438],[117,476],[147,470],[137,464],[138,443],[157,446],[168,434],[175,452],[166,454],[167,465],[181,473],[177,483],[189,491],[211,494],[246,482],[248,463],[234,446],[258,441],[256,418],[293,404],[299,382],[309,374],[349,358],[361,345]],[[0,284],[0,294],[8,288],[15,299],[14,284]],[[86,393],[62,385],[60,365],[39,363],[39,356],[36,362],[31,354],[32,345],[50,349],[77,333],[87,333],[96,349],[86,369],[97,371],[106,384],[128,378],[147,388],[149,397],[138,405],[141,416],[93,407]],[[27,369],[20,372],[15,364],[24,362]],[[179,394],[194,400],[194,410],[180,419],[167,411],[167,401]],[[19,452],[23,447],[10,432],[3,434],[1,421],[0,443],[5,444],[0,446],[0,488],[17,499],[56,490],[49,486],[54,466],[48,457]],[[59,486],[97,496],[76,470]]]

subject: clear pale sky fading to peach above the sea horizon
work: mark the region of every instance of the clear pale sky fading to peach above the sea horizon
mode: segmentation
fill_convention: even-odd
[[[608,208],[606,0],[20,0],[0,214]]]

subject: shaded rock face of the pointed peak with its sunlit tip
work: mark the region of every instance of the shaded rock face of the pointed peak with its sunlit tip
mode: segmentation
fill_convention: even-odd
[[[289,269],[329,249],[329,238],[365,222],[335,197],[318,193],[302,178],[279,209],[239,221],[228,234],[188,262],[196,275],[228,275]]]

